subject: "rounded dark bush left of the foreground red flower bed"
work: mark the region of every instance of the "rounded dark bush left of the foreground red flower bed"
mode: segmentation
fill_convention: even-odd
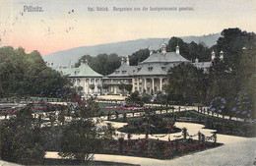
[[[77,159],[83,162],[91,160],[96,150],[100,149],[100,139],[92,121],[83,119],[65,126],[61,138],[62,158]]]

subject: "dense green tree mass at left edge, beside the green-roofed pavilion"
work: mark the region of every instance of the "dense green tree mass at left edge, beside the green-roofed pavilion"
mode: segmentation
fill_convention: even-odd
[[[68,85],[67,79],[48,68],[40,54],[23,48],[0,48],[0,91],[4,96],[36,95],[43,89]]]

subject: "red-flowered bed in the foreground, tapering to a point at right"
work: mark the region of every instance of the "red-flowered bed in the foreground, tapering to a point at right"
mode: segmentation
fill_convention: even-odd
[[[128,155],[157,159],[172,159],[182,155],[206,150],[222,145],[210,141],[194,139],[175,139],[161,141],[156,139],[109,140],[103,142],[103,154]]]

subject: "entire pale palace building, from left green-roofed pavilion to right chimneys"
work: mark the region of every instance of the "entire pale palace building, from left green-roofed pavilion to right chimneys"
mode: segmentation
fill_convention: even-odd
[[[212,61],[216,58],[215,52],[212,52]],[[224,58],[224,53],[220,53],[220,58]],[[180,63],[188,63],[208,71],[212,62],[191,62],[180,55],[179,46],[176,46],[174,52],[166,51],[166,43],[160,45],[160,52],[154,53],[150,48],[150,56],[139,63],[137,66],[130,66],[129,57],[122,58],[121,66],[112,74],[103,77],[89,67],[88,62],[82,62],[80,67],[75,68],[73,63],[70,67],[62,68],[60,65],[54,69],[51,63],[49,67],[58,71],[61,75],[68,76],[74,87],[83,87],[82,94],[87,97],[92,94],[99,94],[100,88],[105,85],[108,94],[127,94],[126,87],[132,87],[132,92],[147,92],[149,94],[157,94],[163,91],[164,85],[167,83],[167,72]],[[122,84],[122,87],[120,86]]]

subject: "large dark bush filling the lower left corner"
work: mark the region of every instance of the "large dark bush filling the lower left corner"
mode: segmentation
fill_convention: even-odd
[[[30,110],[25,108],[17,117],[1,122],[1,159],[26,165],[42,163],[43,137],[32,121]]]

